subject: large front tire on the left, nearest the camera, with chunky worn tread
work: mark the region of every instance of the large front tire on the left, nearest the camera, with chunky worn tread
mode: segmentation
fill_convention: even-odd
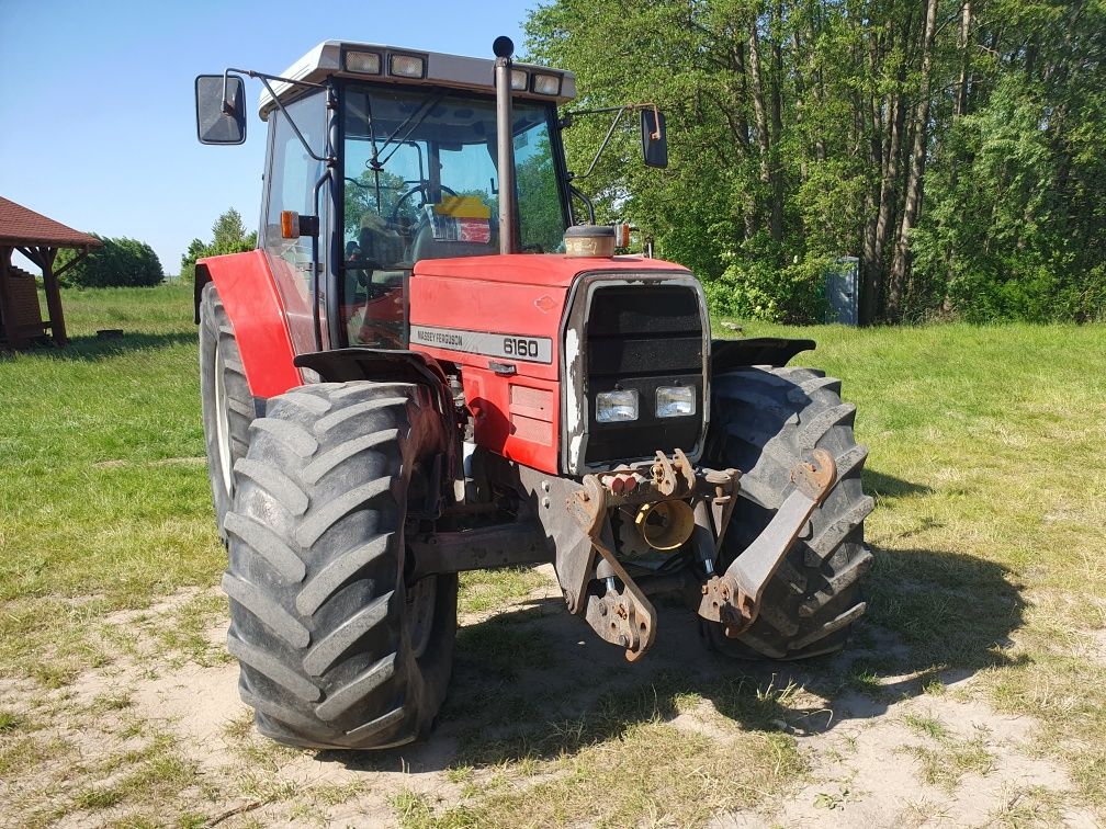
[[[222,584],[258,731],[311,748],[425,735],[457,629],[456,575],[404,575],[408,487],[444,443],[428,392],[303,386],[272,398],[250,431]]]

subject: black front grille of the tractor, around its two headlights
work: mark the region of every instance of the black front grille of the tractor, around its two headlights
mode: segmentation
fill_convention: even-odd
[[[584,338],[588,465],[647,458],[656,450],[690,452],[702,432],[703,336],[699,295],[689,285],[636,282],[597,287]],[[696,413],[656,417],[660,386],[696,389]],[[595,396],[615,388],[638,393],[636,421],[599,423]]]

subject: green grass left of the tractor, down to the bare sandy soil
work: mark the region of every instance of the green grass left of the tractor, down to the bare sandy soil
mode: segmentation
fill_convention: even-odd
[[[0,354],[0,675],[54,686],[103,658],[73,633],[210,586],[222,566],[191,461],[204,454],[191,287],[66,291],[63,304],[67,348]]]

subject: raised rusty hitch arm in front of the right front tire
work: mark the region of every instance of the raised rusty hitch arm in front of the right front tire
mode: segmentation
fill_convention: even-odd
[[[711,576],[702,586],[699,616],[721,622],[730,639],[737,638],[757,619],[764,588],[837,480],[833,455],[824,449],[815,449],[813,460],[813,464],[795,464],[791,471],[795,489],[769,525],[733,559],[724,574]]]

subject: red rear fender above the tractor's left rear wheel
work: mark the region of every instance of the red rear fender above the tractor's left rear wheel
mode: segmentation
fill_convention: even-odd
[[[263,251],[208,256],[196,263],[196,322],[204,286],[213,282],[234,328],[246,379],[254,398],[270,398],[303,384],[284,305]]]

